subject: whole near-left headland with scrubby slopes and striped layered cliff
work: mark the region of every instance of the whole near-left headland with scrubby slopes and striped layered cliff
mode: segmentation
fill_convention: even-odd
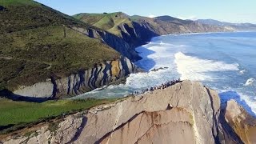
[[[0,7],[0,96],[70,97],[136,72],[133,42],[33,0],[2,0]]]

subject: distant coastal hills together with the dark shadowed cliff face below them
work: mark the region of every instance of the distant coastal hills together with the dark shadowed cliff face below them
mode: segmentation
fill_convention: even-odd
[[[155,36],[163,34],[230,31],[222,26],[211,26],[200,22],[172,18],[170,16],[146,18],[129,16],[118,12],[110,14],[76,14],[74,18],[102,30],[85,29],[78,26],[73,26],[72,29],[86,34],[90,38],[101,39],[108,46],[114,48],[114,50],[117,50],[131,61],[140,59],[135,51],[135,47],[149,42]]]

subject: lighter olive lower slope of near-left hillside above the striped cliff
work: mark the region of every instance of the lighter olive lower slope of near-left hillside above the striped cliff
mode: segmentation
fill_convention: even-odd
[[[0,34],[0,90],[63,78],[118,58],[115,50],[66,26]],[[24,81],[26,79],[26,81]]]

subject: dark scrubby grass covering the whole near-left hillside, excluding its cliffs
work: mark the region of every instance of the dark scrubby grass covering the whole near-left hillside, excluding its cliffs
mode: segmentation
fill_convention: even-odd
[[[1,0],[0,6],[0,90],[62,78],[119,56],[69,28],[93,26],[38,2]]]

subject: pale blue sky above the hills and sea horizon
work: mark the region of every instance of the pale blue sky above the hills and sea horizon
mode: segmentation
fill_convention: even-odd
[[[256,23],[256,0],[36,0],[65,14],[122,11],[129,15],[213,18]]]

